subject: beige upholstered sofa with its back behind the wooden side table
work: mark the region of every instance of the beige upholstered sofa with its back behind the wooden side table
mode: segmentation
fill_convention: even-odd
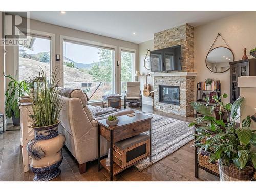
[[[97,159],[97,119],[88,108],[88,97],[79,89],[58,88],[63,101],[59,132],[65,135],[65,145],[79,163],[80,173],[86,172],[86,163]],[[134,113],[127,109],[113,113],[116,116]],[[106,118],[99,117],[99,119]],[[108,142],[100,137],[101,156],[107,154]]]

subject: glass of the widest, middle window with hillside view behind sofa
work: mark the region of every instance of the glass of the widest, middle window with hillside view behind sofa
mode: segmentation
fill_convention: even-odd
[[[66,40],[63,54],[64,87],[82,89],[90,97],[101,83],[90,101],[113,93],[114,50]]]

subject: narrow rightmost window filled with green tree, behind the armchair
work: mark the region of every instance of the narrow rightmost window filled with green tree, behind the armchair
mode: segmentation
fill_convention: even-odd
[[[134,79],[134,52],[121,50],[121,94],[127,90],[127,82]]]

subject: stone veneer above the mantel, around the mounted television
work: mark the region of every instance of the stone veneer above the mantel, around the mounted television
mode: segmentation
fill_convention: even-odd
[[[194,72],[194,28],[188,24],[154,34],[154,49],[181,45],[181,70]]]

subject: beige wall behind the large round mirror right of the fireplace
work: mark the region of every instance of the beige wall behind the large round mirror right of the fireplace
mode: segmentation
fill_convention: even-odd
[[[212,78],[221,81],[221,92],[229,93],[229,70],[224,73],[213,73],[205,65],[205,57],[214,42],[218,33],[221,33],[229,47],[234,53],[235,61],[241,60],[244,54],[243,49],[249,50],[256,46],[256,11],[239,13],[230,17],[222,18],[214,22],[195,28],[195,82]],[[214,47],[226,46],[225,42],[218,37]],[[196,83],[195,83],[196,91]],[[195,93],[196,99],[196,93]],[[229,97],[223,100],[229,102]]]

